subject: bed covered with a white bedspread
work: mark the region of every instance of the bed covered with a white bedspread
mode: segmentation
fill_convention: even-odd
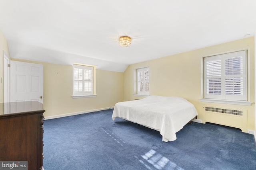
[[[180,97],[148,96],[141,100],[119,102],[114,106],[116,117],[160,131],[162,141],[175,141],[176,132],[198,115],[193,104]]]

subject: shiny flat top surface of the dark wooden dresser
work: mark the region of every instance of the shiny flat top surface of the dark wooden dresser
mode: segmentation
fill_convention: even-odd
[[[0,117],[12,114],[44,111],[43,104],[38,101],[0,103]]]

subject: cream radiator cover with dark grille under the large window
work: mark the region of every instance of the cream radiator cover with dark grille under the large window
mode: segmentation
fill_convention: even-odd
[[[203,106],[202,123],[206,122],[236,127],[247,132],[247,110]]]

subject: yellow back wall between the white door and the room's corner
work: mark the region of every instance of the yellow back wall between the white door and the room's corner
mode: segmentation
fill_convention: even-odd
[[[96,69],[96,97],[72,98],[72,66],[12,59],[44,65],[45,117],[113,107],[122,102],[123,72]],[[86,63],[85,63],[86,64]]]

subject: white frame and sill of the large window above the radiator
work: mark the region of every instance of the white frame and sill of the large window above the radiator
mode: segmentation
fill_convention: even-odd
[[[222,59],[222,92],[225,93],[225,59],[228,58],[233,58],[233,57],[238,57],[240,55],[243,55],[243,82],[244,82],[244,90],[243,90],[243,99],[242,98],[237,98],[236,95],[228,95],[228,94],[224,94],[218,96],[217,98],[212,98],[211,95],[207,95],[206,92],[206,63],[205,60],[210,60],[210,58],[212,59]],[[248,49],[246,50],[241,50],[241,51],[233,51],[233,52],[229,52],[229,53],[223,53],[223,54],[218,54],[218,55],[212,55],[212,56],[205,56],[202,57],[202,78],[203,78],[203,97],[202,99],[200,99],[201,102],[213,102],[213,103],[225,103],[225,104],[239,104],[239,105],[247,105],[250,106],[252,104],[252,102],[248,102],[248,74],[249,74],[249,70],[248,70]],[[232,77],[232,76],[231,76]],[[233,78],[236,77],[235,75],[233,75]],[[223,83],[224,82],[224,83]],[[223,93],[222,93],[223,94]],[[212,94],[214,95],[214,94]],[[234,97],[235,96],[235,97]]]

